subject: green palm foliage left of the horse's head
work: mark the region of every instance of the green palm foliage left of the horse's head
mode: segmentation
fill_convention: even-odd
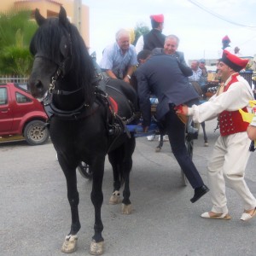
[[[37,25],[31,11],[0,14],[0,73],[28,75],[32,68],[29,44]]]

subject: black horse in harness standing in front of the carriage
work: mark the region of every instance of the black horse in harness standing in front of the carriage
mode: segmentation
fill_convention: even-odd
[[[30,49],[34,55],[28,81],[32,96],[44,102],[49,115],[49,132],[58,160],[67,179],[67,198],[72,224],[61,251],[76,249],[79,222],[79,192],[76,168],[84,161],[92,170],[91,201],[95,207],[94,236],[91,254],[103,253],[101,207],[102,178],[106,154],[113,166],[113,196],[119,196],[121,177],[124,179],[123,213],[131,213],[129,174],[135,137],[126,124],[136,119],[137,94],[130,84],[118,79],[102,84],[93,60],[79,32],[67,20],[61,7],[58,18],[45,19],[35,12],[38,30]],[[100,90],[98,85],[106,87]]]

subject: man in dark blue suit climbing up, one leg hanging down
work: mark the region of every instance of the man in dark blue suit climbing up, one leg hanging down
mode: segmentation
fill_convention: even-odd
[[[151,55],[135,73],[137,77],[137,92],[143,114],[143,130],[148,131],[151,121],[151,105],[149,97],[154,94],[159,101],[156,117],[167,131],[172,152],[181,166],[189,183],[195,189],[191,202],[205,195],[209,189],[203,183],[185,146],[185,125],[178,118],[175,107],[186,103],[192,104],[198,100],[198,94],[189,84],[178,66],[177,59],[172,55]]]

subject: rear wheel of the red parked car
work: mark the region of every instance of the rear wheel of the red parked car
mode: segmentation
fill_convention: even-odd
[[[32,146],[42,145],[49,139],[49,130],[43,121],[34,120],[26,124],[23,136]]]

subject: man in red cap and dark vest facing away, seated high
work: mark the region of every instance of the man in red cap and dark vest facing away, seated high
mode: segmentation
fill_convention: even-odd
[[[142,35],[137,40],[136,52],[137,54],[143,49],[152,50],[156,47],[163,47],[165,38],[162,34],[164,27],[164,15],[150,15],[152,30],[145,35]]]

